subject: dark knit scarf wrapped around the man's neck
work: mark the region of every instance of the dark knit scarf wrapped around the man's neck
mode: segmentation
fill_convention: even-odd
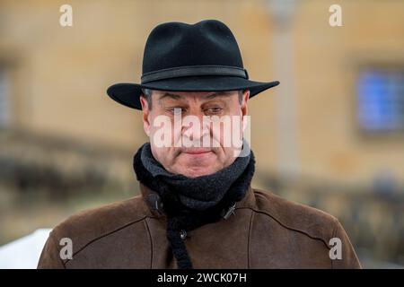
[[[144,149],[147,149],[146,154]],[[254,174],[254,154],[250,151],[246,164],[242,163],[242,161],[246,161],[245,158],[237,158],[230,166],[226,167],[224,170],[219,170],[213,175],[187,178],[172,175],[166,170],[165,172],[150,172],[149,170],[155,171],[155,169],[151,169],[150,166],[148,166],[147,169],[145,168],[145,157],[149,157],[149,160],[153,158],[151,152],[150,154],[148,152],[150,152],[150,143],[145,143],[134,156],[133,166],[136,178],[161,197],[164,213],[167,215],[167,239],[170,242],[172,253],[177,259],[178,268],[192,268],[187,248],[185,247],[183,239],[180,237],[180,233],[184,230],[194,230],[207,223],[221,220],[224,213],[226,213],[233,204],[242,200],[246,195]],[[154,161],[148,161],[146,165]],[[157,161],[155,161],[155,164],[157,165],[155,168],[159,170],[161,165]],[[240,170],[241,167],[242,170]],[[221,173],[219,177],[217,173]],[[222,181],[225,180],[222,177],[223,173],[226,175],[233,173],[239,176],[237,178],[229,177],[227,180],[228,184],[218,186],[217,178],[220,178]],[[172,180],[173,178],[175,180]],[[204,185],[204,187],[196,187],[195,182]],[[208,204],[203,204],[204,198],[200,194],[196,197],[194,196],[198,200],[189,201],[189,195],[192,193],[188,192],[184,197],[184,187],[187,187],[187,185],[190,189],[195,189],[199,192],[204,189],[206,191],[215,190],[217,196],[212,197],[212,194],[206,194],[206,203]],[[225,188],[225,190],[217,189],[218,187]],[[212,204],[212,202],[215,204]]]

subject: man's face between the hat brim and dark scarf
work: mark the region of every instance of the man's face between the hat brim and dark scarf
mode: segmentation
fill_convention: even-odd
[[[165,170],[189,178],[229,166],[240,150],[249,97],[250,91],[152,91],[151,105],[141,97],[145,133],[154,158]],[[225,125],[224,119],[230,119],[231,125]],[[170,130],[163,136],[170,144],[164,146],[163,126]]]

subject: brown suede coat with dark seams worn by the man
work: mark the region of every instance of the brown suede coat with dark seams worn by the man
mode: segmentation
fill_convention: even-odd
[[[84,211],[52,230],[39,268],[175,268],[166,217],[141,196]],[[146,200],[145,200],[146,199]],[[73,242],[73,259],[59,257],[60,239]],[[342,242],[331,260],[329,239]],[[249,188],[234,214],[188,232],[195,268],[360,268],[338,220],[327,213]]]

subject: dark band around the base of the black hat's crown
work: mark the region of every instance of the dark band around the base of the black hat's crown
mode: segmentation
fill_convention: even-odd
[[[145,73],[141,77],[142,83],[177,78],[190,75],[230,75],[249,79],[246,69],[228,65],[189,65],[162,69]]]

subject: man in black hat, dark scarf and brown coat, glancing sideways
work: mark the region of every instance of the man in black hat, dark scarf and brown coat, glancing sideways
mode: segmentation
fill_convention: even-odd
[[[39,267],[360,267],[337,219],[250,187],[248,101],[277,84],[249,80],[222,22],[154,28],[142,83],[108,89],[143,112],[150,143],[134,157],[141,196],[57,225]]]

